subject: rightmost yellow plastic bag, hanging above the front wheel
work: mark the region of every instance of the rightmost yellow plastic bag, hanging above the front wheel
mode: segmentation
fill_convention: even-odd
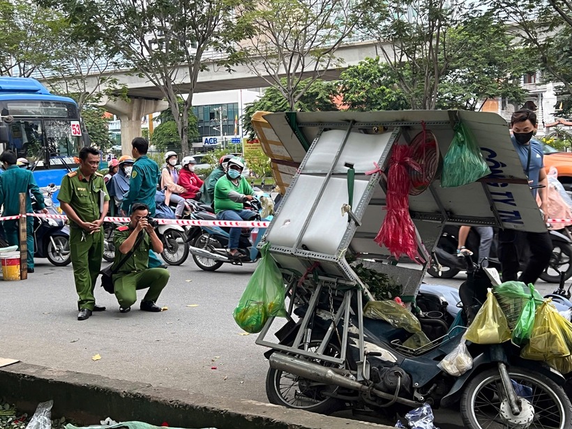
[[[530,333],[529,343],[520,352],[520,357],[533,361],[548,361],[563,356],[569,356],[570,349],[562,333],[562,320],[558,310],[550,300],[545,301],[536,310],[534,326]]]

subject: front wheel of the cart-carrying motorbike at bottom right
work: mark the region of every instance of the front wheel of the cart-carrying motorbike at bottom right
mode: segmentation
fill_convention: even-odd
[[[509,368],[509,375],[513,383],[520,385],[516,389],[522,407],[520,414],[512,416],[499,370],[491,368],[476,375],[462,393],[460,412],[465,428],[570,427],[572,404],[561,386],[525,368]]]

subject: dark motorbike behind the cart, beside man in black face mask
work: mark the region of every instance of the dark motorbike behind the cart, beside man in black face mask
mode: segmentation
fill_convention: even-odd
[[[456,256],[458,246],[459,227],[455,225],[446,225],[441,237],[437,242],[435,252],[432,254],[431,266],[427,272],[436,278],[453,278],[460,271],[465,271],[466,264],[464,259]],[[550,230],[550,239],[552,239],[552,257],[550,264],[541,273],[540,278],[547,283],[559,283],[560,273],[565,274],[566,280],[572,277],[572,239],[566,229],[562,231]],[[500,262],[497,257],[497,234],[493,239],[490,249],[489,266],[500,271]],[[465,246],[473,253],[474,260],[479,259],[479,234],[474,228],[471,228]],[[524,268],[526,261],[522,261]]]

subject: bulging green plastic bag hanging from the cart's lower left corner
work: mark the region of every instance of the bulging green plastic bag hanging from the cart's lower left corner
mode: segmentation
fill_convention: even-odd
[[[258,333],[269,317],[286,317],[285,287],[282,273],[266,243],[253,276],[248,281],[241,299],[234,309],[234,321],[246,332]]]

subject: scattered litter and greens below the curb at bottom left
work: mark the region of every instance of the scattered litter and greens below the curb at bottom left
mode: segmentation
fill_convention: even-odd
[[[53,400],[47,402],[40,402],[36,412],[33,416],[29,417],[28,414],[19,414],[14,405],[0,399],[0,429],[115,429],[115,428],[128,428],[128,429],[163,429],[160,426],[153,426],[149,423],[142,421],[126,421],[116,422],[110,417],[100,421],[99,425],[91,425],[89,427],[82,427],[77,423],[66,421],[65,417],[61,419],[52,420],[52,406]],[[167,422],[162,426],[169,426]],[[179,429],[179,428],[172,428]],[[216,428],[203,428],[203,429],[216,429]]]

